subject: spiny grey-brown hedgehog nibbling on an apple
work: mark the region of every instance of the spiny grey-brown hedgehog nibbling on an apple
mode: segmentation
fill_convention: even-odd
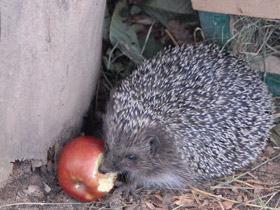
[[[111,91],[99,171],[125,174],[122,191],[201,187],[256,160],[272,116],[266,84],[234,53],[168,47]]]

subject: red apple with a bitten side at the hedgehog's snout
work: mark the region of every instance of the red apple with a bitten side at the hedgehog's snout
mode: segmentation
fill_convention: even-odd
[[[58,181],[70,196],[81,201],[93,201],[114,186],[116,174],[101,174],[103,141],[81,136],[68,143],[60,153],[57,166]]]

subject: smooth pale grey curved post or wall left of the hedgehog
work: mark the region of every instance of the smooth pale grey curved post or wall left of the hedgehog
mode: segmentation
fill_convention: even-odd
[[[0,1],[0,182],[78,134],[94,93],[104,0]]]

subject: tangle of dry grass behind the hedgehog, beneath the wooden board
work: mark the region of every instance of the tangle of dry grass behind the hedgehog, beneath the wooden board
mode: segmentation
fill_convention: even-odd
[[[247,60],[280,55],[280,20],[231,16],[232,38],[225,45]]]

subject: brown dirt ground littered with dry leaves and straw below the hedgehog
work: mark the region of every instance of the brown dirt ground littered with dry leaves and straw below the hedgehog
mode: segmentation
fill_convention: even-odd
[[[278,157],[277,157],[278,155]],[[276,158],[275,158],[276,157]],[[273,159],[275,158],[275,159]],[[96,202],[82,203],[69,197],[60,188],[55,161],[42,167],[32,167],[31,162],[15,162],[14,171],[7,184],[0,189],[0,209],[262,209],[280,208],[280,157],[279,150],[267,146],[258,162],[262,166],[243,171],[243,177],[229,177],[232,183],[220,180],[206,191],[185,189],[181,192],[139,190],[141,201],[122,198],[111,193]],[[251,169],[253,169],[253,166]],[[248,172],[248,173],[246,173]],[[227,181],[228,181],[227,180]],[[221,184],[223,183],[223,184]]]

